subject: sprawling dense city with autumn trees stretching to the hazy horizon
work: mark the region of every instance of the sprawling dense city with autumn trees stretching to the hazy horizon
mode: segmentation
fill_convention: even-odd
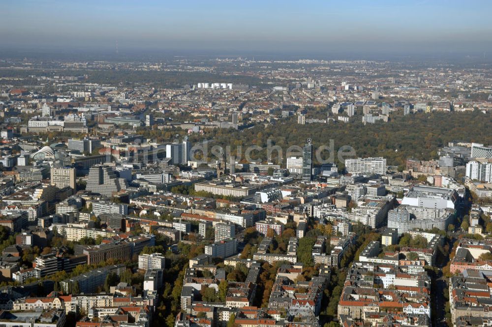
[[[492,324],[486,53],[2,50],[0,125],[0,327]]]

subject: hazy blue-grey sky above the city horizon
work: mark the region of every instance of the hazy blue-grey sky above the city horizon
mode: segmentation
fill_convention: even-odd
[[[492,50],[490,0],[2,0],[0,10],[4,50]]]

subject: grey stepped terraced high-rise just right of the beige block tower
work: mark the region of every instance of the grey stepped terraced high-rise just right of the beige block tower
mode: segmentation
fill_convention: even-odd
[[[117,171],[107,165],[96,164],[89,169],[86,190],[103,196],[112,196],[128,188],[128,182],[120,178]]]

